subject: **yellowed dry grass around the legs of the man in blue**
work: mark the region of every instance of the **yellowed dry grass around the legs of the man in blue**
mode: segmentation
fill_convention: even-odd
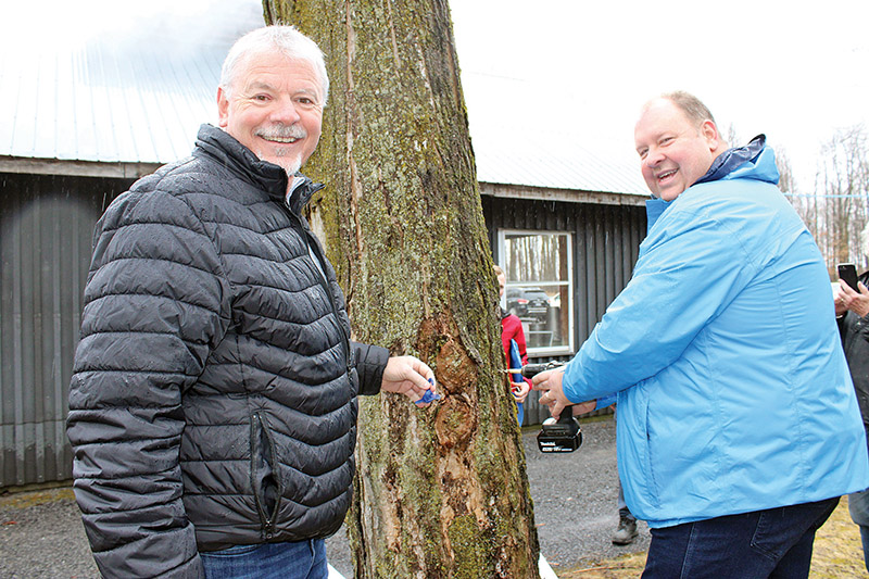
[[[565,569],[558,579],[627,579],[640,577],[645,566],[645,553],[624,555],[595,562],[581,568]],[[847,496],[818,530],[811,556],[810,579],[869,578],[862,562],[860,531],[848,515]]]

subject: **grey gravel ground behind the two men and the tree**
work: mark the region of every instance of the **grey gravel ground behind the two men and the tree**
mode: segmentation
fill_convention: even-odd
[[[522,436],[540,546],[556,572],[648,547],[642,523],[633,544],[609,541],[618,525],[613,418],[583,421],[582,435],[582,446],[565,454],[540,453],[537,429]],[[343,530],[327,541],[327,553],[336,570],[352,577]],[[0,496],[0,577],[99,577],[70,489]]]

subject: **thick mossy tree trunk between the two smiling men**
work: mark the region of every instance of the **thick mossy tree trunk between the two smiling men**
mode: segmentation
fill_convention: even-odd
[[[266,0],[326,54],[312,203],[355,339],[418,355],[444,399],[361,400],[356,577],[538,577],[452,23],[438,0]]]

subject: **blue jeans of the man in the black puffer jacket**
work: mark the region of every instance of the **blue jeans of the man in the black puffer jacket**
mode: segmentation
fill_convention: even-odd
[[[326,579],[329,576],[323,539],[236,545],[199,555],[205,579]]]

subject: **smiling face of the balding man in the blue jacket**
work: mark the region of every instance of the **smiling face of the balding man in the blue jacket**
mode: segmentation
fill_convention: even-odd
[[[643,110],[633,131],[643,178],[655,197],[672,201],[703,177],[721,152],[715,123],[700,126],[668,99]]]

